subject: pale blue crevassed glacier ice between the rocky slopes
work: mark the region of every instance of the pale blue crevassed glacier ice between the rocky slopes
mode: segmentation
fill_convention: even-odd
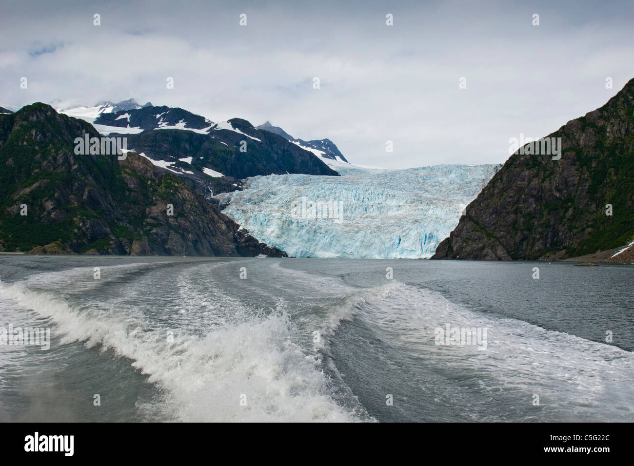
[[[498,165],[256,176],[216,196],[257,240],[292,257],[431,257]],[[312,207],[312,208],[311,208]]]

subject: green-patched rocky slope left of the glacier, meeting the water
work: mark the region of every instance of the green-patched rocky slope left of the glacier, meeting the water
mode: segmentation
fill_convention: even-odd
[[[136,153],[125,160],[75,154],[74,140],[84,134],[100,136],[87,122],[42,103],[0,115],[0,250],[284,254]]]

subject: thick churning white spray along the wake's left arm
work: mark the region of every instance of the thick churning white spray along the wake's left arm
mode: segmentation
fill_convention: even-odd
[[[325,394],[318,361],[292,343],[283,306],[268,315],[243,309],[200,336],[150,325],[130,306],[73,307],[61,295],[30,290],[25,282],[0,282],[0,298],[50,318],[65,335],[63,344],[85,341],[133,359],[150,382],[169,391],[169,408],[178,420],[354,420]]]

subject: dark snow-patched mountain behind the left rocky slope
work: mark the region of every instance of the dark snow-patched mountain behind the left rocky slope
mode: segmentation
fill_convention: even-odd
[[[214,123],[182,108],[144,107],[102,113],[94,124],[104,134],[125,135],[128,148],[195,189],[202,183],[205,190],[228,191],[238,179],[257,175],[338,176],[313,153],[239,118]],[[213,179],[221,177],[230,183]]]

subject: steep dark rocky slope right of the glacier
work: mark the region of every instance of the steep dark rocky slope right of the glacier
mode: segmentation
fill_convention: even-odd
[[[631,241],[634,79],[548,137],[562,138],[561,159],[514,153],[432,259],[565,259]]]

